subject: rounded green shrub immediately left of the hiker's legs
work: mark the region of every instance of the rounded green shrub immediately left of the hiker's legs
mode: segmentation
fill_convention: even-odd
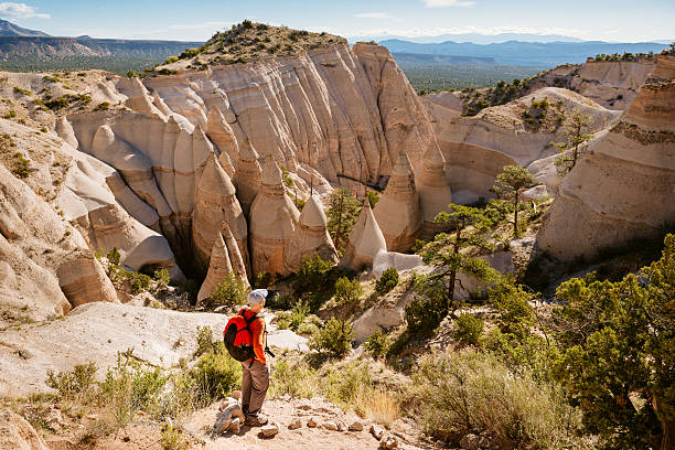
[[[190,372],[203,405],[227,396],[242,379],[242,365],[224,353],[203,354]]]

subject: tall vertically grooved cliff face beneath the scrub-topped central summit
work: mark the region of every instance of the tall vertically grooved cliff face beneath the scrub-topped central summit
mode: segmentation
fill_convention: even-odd
[[[193,125],[208,130],[217,107],[237,142],[248,138],[260,156],[274,154],[291,171],[306,163],[333,182],[376,183],[401,147],[417,158],[432,140],[415,90],[389,52],[374,44],[331,44],[144,84]]]

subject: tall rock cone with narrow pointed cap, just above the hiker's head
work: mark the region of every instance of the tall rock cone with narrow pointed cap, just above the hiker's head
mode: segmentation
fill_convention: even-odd
[[[285,193],[283,176],[270,156],[262,168],[260,192],[250,206],[253,274],[285,274],[283,255],[296,233],[300,212]]]

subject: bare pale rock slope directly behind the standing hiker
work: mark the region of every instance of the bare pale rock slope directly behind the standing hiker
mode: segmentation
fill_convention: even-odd
[[[199,326],[210,326],[214,340],[223,339],[227,315],[178,312],[122,303],[95,302],[75,308],[63,320],[2,332],[0,386],[12,395],[46,390],[46,372],[72,371],[95,362],[105,368],[117,364],[117,353],[132,349],[150,364],[170,367],[196,349]],[[291,336],[291,333],[293,336]],[[307,349],[307,340],[290,330],[272,332],[270,346]],[[302,346],[304,345],[304,346]],[[20,356],[14,349],[21,349]],[[307,351],[307,350],[306,350]]]

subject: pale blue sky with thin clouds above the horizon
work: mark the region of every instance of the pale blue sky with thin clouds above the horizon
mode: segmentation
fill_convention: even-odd
[[[527,32],[586,40],[675,39],[673,0],[28,0],[0,18],[52,35],[203,41],[244,19],[354,36]]]

